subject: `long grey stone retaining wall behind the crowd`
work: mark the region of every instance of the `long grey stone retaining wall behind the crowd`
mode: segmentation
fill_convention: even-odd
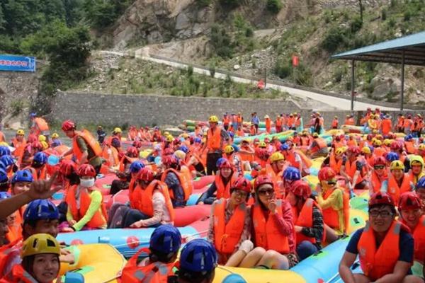
[[[207,120],[209,115],[222,117],[224,112],[242,112],[247,119],[255,111],[262,119],[266,114],[274,118],[280,113],[300,111],[293,101],[285,100],[63,92],[57,93],[52,109],[55,120],[110,126],[179,125],[184,119]]]

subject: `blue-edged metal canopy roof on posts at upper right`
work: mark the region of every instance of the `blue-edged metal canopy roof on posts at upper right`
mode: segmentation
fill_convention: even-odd
[[[425,66],[425,31],[335,54],[332,59]]]

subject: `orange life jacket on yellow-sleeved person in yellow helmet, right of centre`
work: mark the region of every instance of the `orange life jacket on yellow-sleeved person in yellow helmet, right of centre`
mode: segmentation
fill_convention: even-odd
[[[348,230],[348,224],[350,221],[350,196],[348,193],[344,192],[344,189],[341,187],[336,187],[334,190],[341,190],[343,193],[343,205],[342,205],[342,212],[344,214],[344,232]],[[323,199],[326,200],[333,190],[327,190],[327,192],[324,193]],[[329,227],[333,229],[340,229],[339,227],[339,214],[338,211],[333,209],[332,207],[328,207],[327,209],[323,209],[323,221],[326,223]]]

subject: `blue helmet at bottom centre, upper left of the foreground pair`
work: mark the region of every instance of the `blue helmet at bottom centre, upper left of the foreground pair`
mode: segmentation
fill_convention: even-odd
[[[150,238],[149,249],[159,253],[177,253],[181,246],[179,229],[172,225],[161,225]]]

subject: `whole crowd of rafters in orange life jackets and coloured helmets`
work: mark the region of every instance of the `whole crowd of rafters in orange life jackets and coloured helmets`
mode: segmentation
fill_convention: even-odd
[[[178,137],[132,126],[125,143],[119,127],[108,136],[99,126],[96,139],[66,120],[62,131],[72,140],[69,148],[59,134],[50,137],[42,118],[31,115],[31,121],[28,137],[19,129],[9,142],[0,132],[0,282],[52,282],[61,264],[75,260],[55,240],[58,233],[111,228],[157,228],[149,257],[129,260],[123,282],[140,282],[140,272],[169,282],[212,282],[217,264],[288,270],[349,233],[349,200],[361,192],[370,196],[369,221],[351,236],[341,278],[424,282],[420,115],[400,115],[392,125],[391,117],[368,109],[359,122],[370,134],[345,134],[335,119],[325,135],[317,112],[298,132],[300,114],[278,115],[275,122],[266,116],[265,133],[273,124],[273,132],[291,130],[283,139],[250,137],[262,131],[256,113],[248,125],[240,113],[226,113],[221,123],[212,115]],[[344,125],[354,124],[348,115]],[[141,156],[146,146],[152,150]],[[321,166],[312,186],[305,177],[314,160]],[[100,173],[118,176],[111,194],[128,190],[128,204],[106,209],[95,185]],[[176,265],[176,208],[186,206],[193,178],[204,175],[215,176],[198,200],[211,204],[208,236],[186,244]],[[59,190],[64,200],[56,206],[50,198]],[[363,274],[351,270],[357,256]],[[419,265],[414,275],[413,262]]]

